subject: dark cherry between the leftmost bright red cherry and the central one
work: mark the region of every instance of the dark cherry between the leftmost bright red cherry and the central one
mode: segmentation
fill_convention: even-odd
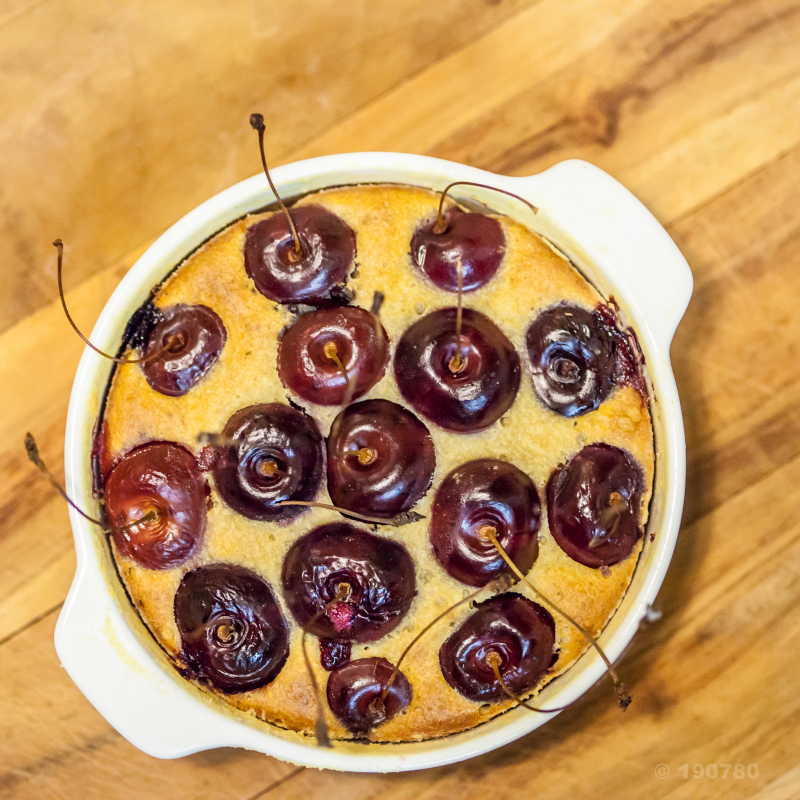
[[[302,411],[282,403],[250,406],[228,420],[223,447],[213,466],[222,499],[248,519],[291,519],[301,506],[281,500],[313,500],[322,479],[322,434]]]

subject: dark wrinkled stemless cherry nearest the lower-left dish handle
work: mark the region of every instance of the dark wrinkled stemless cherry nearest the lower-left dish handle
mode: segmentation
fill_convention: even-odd
[[[187,572],[175,622],[193,677],[222,692],[266,686],[289,656],[289,629],[269,584],[237,564]]]

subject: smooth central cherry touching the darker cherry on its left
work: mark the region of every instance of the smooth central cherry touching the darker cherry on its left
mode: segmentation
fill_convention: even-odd
[[[340,508],[391,519],[428,491],[435,466],[428,429],[397,403],[354,403],[331,425],[328,493]]]

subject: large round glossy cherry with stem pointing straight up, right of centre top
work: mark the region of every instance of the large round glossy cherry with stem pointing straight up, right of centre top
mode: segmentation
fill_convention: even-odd
[[[394,373],[403,397],[423,416],[456,433],[488,428],[519,389],[519,356],[485,314],[464,309],[460,364],[456,309],[442,308],[402,336]]]

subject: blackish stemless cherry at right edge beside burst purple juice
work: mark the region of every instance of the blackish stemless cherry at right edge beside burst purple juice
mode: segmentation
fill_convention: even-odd
[[[557,414],[593,411],[614,388],[614,338],[597,313],[561,303],[539,314],[526,342],[534,391]]]

